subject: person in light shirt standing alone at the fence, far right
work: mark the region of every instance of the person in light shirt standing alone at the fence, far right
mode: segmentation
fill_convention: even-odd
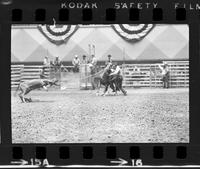
[[[164,63],[163,65],[159,65],[159,68],[161,69],[162,74],[162,82],[163,82],[163,88],[169,88],[169,68],[168,64]]]

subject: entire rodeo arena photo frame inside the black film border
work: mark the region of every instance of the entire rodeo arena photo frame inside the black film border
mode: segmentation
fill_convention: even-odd
[[[187,25],[13,25],[13,143],[188,143]]]

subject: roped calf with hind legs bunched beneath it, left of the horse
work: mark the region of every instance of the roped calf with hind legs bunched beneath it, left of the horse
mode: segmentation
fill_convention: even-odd
[[[18,94],[21,101],[23,103],[26,102],[30,102],[31,98],[25,98],[24,96],[27,95],[31,90],[35,90],[35,89],[40,89],[43,88],[46,91],[48,91],[48,86],[58,86],[58,84],[56,83],[58,80],[56,79],[33,79],[33,80],[29,80],[29,81],[25,81],[19,84],[17,90],[20,90],[20,93]]]

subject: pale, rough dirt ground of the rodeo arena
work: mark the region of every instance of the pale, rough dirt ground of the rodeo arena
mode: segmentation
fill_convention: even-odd
[[[13,143],[189,142],[188,89],[126,90],[40,90],[26,104],[12,93]]]

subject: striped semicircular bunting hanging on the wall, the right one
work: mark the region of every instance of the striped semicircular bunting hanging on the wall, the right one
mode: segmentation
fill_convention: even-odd
[[[114,24],[112,28],[126,41],[135,42],[144,38],[153,26],[153,24]]]

